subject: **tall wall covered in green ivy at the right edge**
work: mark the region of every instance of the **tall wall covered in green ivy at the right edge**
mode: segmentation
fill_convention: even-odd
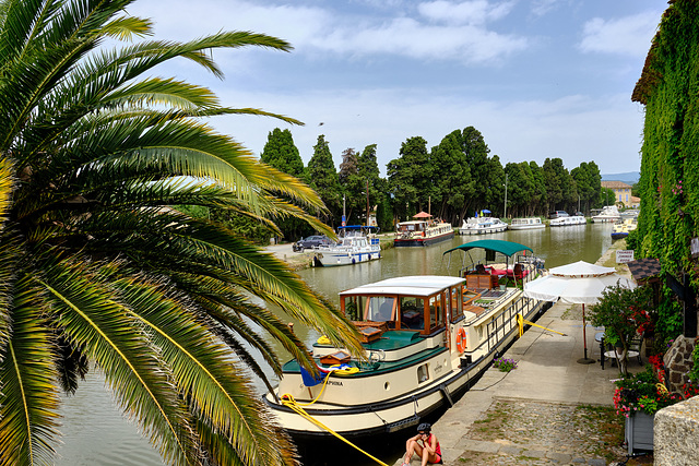
[[[633,246],[666,272],[690,273],[696,286],[689,241],[699,222],[699,1],[670,2],[632,100],[645,105]]]

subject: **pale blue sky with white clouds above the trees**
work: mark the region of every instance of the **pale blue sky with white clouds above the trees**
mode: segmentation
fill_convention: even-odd
[[[413,136],[474,127],[501,164],[559,157],[569,170],[640,169],[644,108],[631,101],[666,0],[139,0],[154,38],[221,31],[292,44],[215,50],[220,80],[180,59],[154,71],[205,85],[222,105],[286,115],[209,121],[256,156],[288,129],[304,164],[318,136],[335,167],[377,144],[381,174]]]

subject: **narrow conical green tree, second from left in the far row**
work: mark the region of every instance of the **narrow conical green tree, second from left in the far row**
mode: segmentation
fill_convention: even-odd
[[[323,134],[318,136],[313,146],[313,155],[306,167],[308,184],[320,195],[328,206],[328,212],[322,218],[331,225],[336,225],[342,214],[342,189],[332,160],[330,145]]]

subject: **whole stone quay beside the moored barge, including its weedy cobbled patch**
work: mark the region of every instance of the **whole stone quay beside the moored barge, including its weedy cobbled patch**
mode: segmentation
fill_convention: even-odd
[[[624,247],[614,243],[597,264],[628,276],[628,267],[614,260]],[[490,368],[433,427],[446,465],[606,465],[626,459],[623,423],[619,435],[618,422],[611,423],[608,416],[618,370],[578,363],[584,351],[581,306],[556,303],[537,323],[565,336],[531,327],[503,355],[517,361],[517,369]],[[588,326],[588,351],[599,360],[594,334]],[[629,362],[630,371],[641,369]],[[652,457],[627,464],[649,463]],[[411,465],[419,465],[416,457]]]

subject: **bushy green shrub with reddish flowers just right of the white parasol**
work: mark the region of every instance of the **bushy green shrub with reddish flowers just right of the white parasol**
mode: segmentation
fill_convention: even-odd
[[[648,312],[651,307],[652,289],[650,287],[628,289],[616,286],[605,289],[600,301],[590,308],[592,324],[604,326],[605,343],[617,348],[621,375],[627,373],[631,339],[636,338],[639,332],[647,331],[651,324],[651,315]]]

